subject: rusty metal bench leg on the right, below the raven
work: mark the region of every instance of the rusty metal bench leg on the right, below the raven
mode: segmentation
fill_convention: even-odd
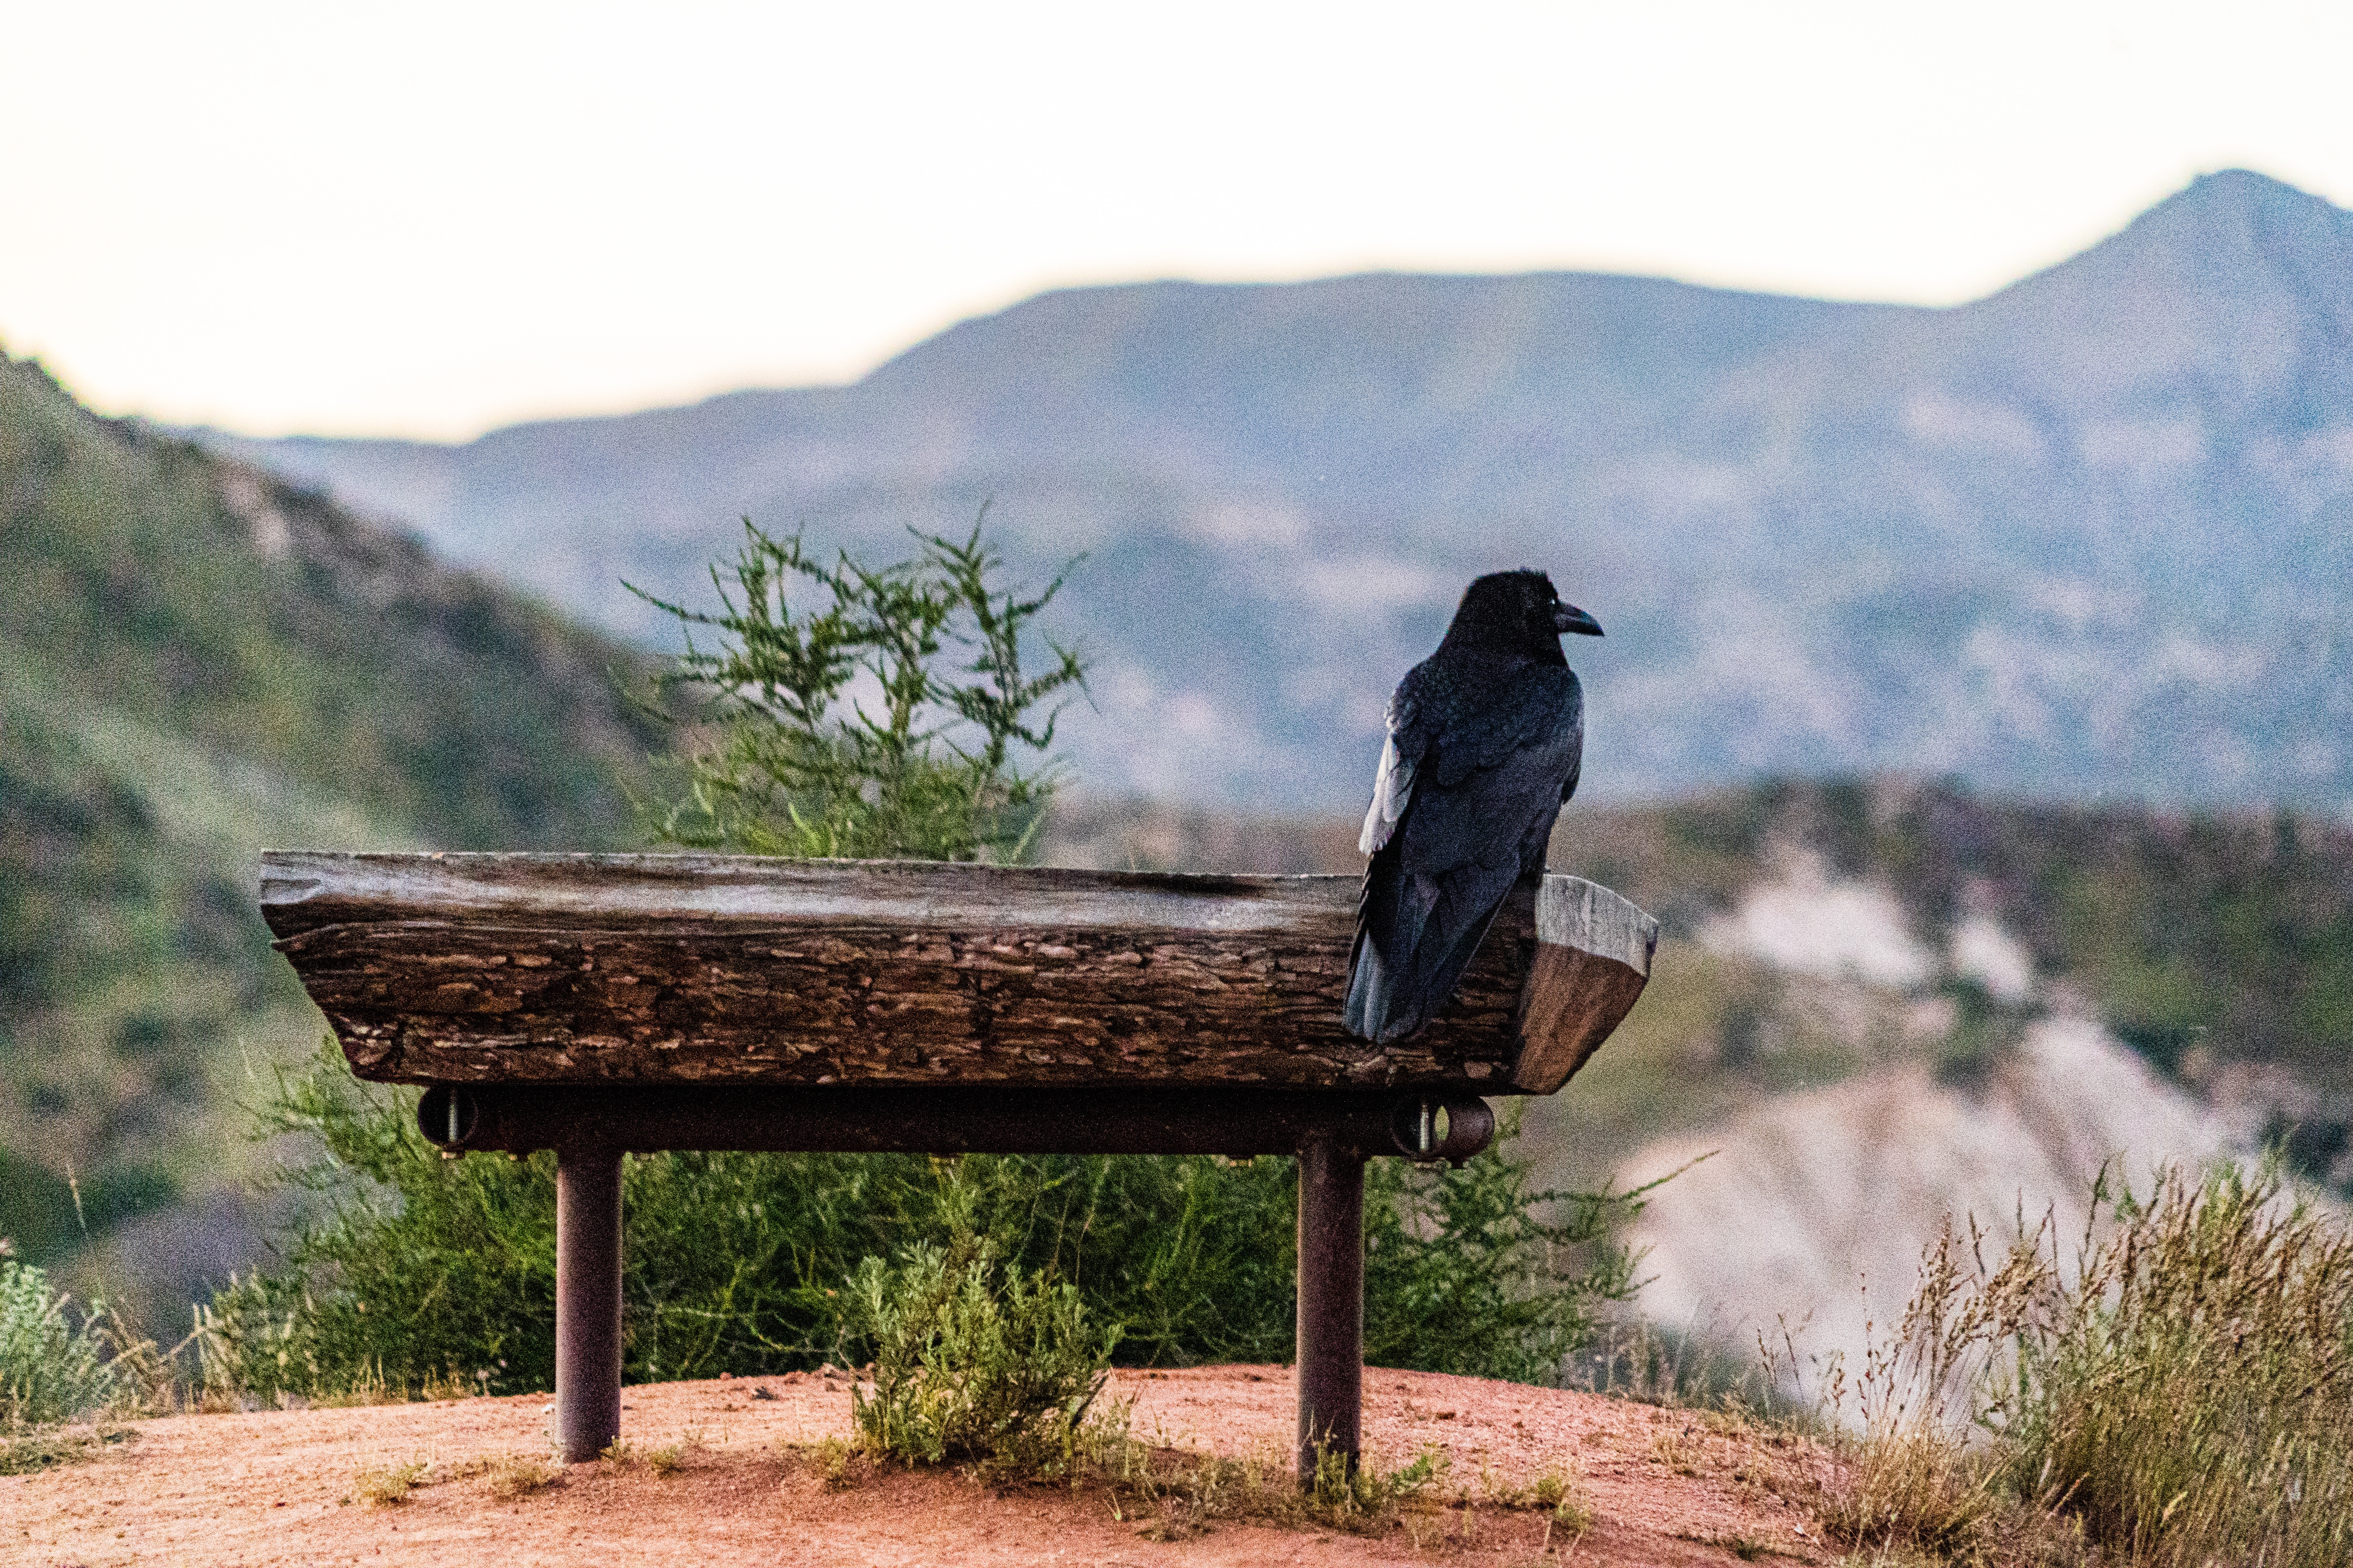
[[[1318,1450],[1355,1472],[1365,1410],[1365,1154],[1299,1150],[1299,1486]]]

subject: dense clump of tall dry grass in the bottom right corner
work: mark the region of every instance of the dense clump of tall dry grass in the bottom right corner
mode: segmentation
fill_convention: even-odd
[[[2353,1237],[2235,1166],[2108,1208],[2071,1284],[1993,1281],[2007,1481],[2134,1563],[2353,1561]]]

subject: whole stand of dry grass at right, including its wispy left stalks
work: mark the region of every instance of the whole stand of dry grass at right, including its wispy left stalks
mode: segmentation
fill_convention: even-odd
[[[2021,1227],[2024,1232],[2024,1227]],[[1951,1225],[1861,1368],[1833,1363],[1826,1523],[1946,1561],[2353,1561],[2353,1237],[2271,1168],[2094,1187],[1988,1260]]]

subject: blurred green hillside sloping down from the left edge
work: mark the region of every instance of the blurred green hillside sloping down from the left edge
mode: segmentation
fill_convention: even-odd
[[[0,355],[0,1237],[247,1164],[247,1072],[315,1027],[264,844],[628,842],[633,661]]]

